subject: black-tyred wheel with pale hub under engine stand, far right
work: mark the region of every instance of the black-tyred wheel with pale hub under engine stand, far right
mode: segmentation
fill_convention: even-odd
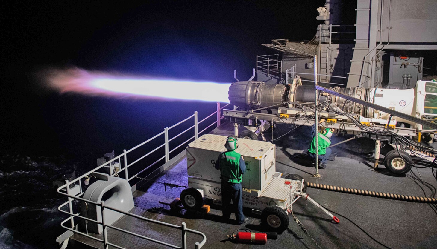
[[[413,166],[413,159],[403,150],[391,150],[385,154],[385,167],[394,174],[405,174]]]

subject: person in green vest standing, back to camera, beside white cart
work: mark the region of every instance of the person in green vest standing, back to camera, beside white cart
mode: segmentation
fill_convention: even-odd
[[[243,215],[243,190],[241,176],[246,172],[246,163],[243,156],[234,150],[238,148],[236,136],[228,136],[225,143],[226,151],[218,155],[215,168],[220,170],[222,179],[222,213],[228,221],[231,213],[235,211],[238,225],[246,223],[249,218]],[[231,205],[231,200],[233,205]]]

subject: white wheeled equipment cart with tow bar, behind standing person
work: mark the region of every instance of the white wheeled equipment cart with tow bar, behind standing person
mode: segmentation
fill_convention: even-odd
[[[206,134],[188,144],[188,186],[180,194],[185,208],[200,209],[203,198],[222,200],[220,171],[215,169],[218,155],[225,151],[226,136]],[[261,220],[270,230],[282,232],[288,227],[288,213],[299,198],[311,201],[335,222],[338,218],[309,198],[306,184],[297,174],[281,178],[276,172],[275,145],[269,142],[239,139],[235,150],[244,157],[246,173],[243,174],[243,207],[261,211]]]

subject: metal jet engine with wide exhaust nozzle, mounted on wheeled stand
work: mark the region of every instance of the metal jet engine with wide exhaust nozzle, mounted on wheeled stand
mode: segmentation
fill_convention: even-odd
[[[418,81],[414,89],[385,89],[385,88],[331,88],[344,95],[384,106],[395,111],[425,119],[437,116],[437,83]],[[274,108],[298,108],[298,106],[312,105],[315,100],[313,85],[302,85],[300,81],[292,84],[266,84],[257,81],[234,82],[229,86],[229,102],[240,109],[274,109]],[[388,113],[347,101],[338,96],[326,92],[318,92],[319,102],[337,106],[343,112],[372,119],[368,122],[381,123],[387,120]],[[379,119],[380,122],[375,119]],[[396,118],[399,122],[415,123]]]

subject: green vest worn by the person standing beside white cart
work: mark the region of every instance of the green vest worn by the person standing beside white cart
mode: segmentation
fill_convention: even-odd
[[[220,175],[222,180],[232,183],[241,182],[240,157],[235,151],[226,151],[220,156]]]

